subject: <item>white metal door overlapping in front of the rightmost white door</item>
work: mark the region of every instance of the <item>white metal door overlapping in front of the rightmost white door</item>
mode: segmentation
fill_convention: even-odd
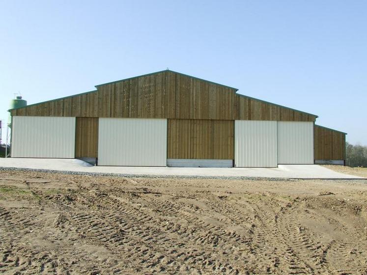
[[[277,167],[277,122],[235,120],[236,167]]]

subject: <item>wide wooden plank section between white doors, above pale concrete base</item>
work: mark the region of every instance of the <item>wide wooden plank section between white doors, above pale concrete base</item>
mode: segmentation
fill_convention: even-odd
[[[234,159],[233,120],[168,120],[168,159]]]

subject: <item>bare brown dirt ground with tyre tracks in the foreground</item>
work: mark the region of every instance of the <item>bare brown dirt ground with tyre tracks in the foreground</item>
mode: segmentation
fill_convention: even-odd
[[[0,171],[0,273],[367,274],[367,181]]]

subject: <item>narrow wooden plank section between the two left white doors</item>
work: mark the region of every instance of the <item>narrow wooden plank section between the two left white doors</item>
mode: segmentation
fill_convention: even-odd
[[[77,117],[75,126],[75,157],[98,157],[98,117]]]

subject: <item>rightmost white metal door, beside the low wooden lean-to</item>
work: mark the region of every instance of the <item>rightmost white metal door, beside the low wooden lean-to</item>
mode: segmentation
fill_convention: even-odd
[[[278,164],[313,164],[313,122],[278,121]]]

